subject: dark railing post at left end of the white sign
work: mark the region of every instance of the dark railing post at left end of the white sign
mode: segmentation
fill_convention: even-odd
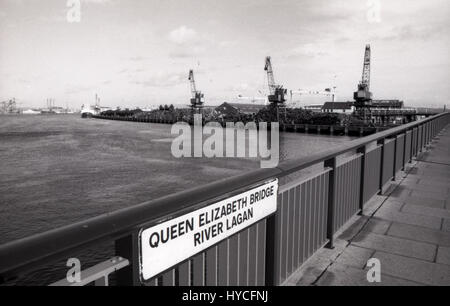
[[[115,273],[118,286],[138,286],[139,281],[139,257],[137,233],[130,234],[115,241],[116,256],[129,260],[130,265]]]

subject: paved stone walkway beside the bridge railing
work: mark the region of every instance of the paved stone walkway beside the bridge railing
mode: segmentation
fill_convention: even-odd
[[[398,183],[400,182],[400,183]],[[450,126],[286,285],[450,285]],[[369,283],[369,258],[381,283]]]

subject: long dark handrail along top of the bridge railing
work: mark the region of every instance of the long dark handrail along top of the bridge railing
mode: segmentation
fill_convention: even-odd
[[[35,234],[0,246],[0,278],[30,271],[39,265],[53,262],[96,242],[111,241],[143,226],[198,209],[226,194],[236,192],[264,180],[283,177],[330,158],[361,148],[371,142],[398,135],[408,129],[432,121],[449,113],[395,127],[359,138],[315,155],[286,161],[271,169],[257,169],[204,186],[123,208],[86,221]]]

